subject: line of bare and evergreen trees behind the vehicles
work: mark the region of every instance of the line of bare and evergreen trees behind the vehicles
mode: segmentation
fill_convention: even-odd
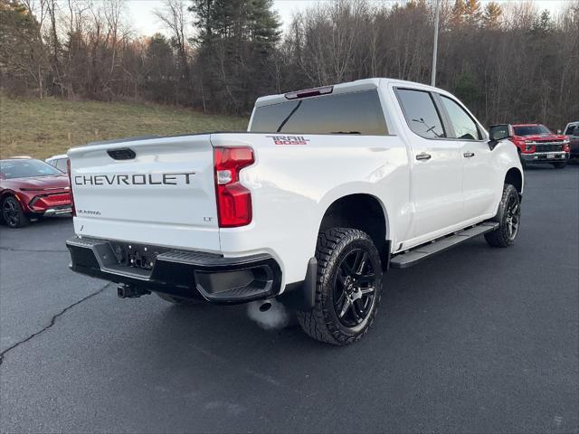
[[[0,79],[14,95],[149,100],[247,114],[260,95],[368,77],[430,83],[434,1],[337,0],[282,31],[272,0],[166,0],[167,34],[122,0],[0,0]],[[579,0],[441,0],[437,86],[487,125],[579,118]]]

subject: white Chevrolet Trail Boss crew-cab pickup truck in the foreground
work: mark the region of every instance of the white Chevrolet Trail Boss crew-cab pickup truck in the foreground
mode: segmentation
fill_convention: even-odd
[[[175,303],[280,302],[329,344],[365,335],[383,271],[517,237],[523,171],[450,93],[369,79],[257,100],[247,132],[68,152],[71,269]]]

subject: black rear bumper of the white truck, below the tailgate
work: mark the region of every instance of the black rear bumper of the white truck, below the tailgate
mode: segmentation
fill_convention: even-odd
[[[73,271],[147,291],[217,304],[245,303],[280,293],[280,266],[266,254],[223,258],[78,237],[66,241],[66,246]],[[135,263],[147,268],[135,267]]]

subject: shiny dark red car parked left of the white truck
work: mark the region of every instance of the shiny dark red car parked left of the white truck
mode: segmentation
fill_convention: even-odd
[[[0,211],[11,228],[23,227],[31,219],[70,213],[68,175],[33,158],[0,160]]]

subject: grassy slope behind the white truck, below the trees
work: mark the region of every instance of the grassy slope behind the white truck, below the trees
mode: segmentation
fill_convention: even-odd
[[[247,121],[153,104],[13,99],[0,93],[0,156],[46,158],[95,140],[239,131]]]

